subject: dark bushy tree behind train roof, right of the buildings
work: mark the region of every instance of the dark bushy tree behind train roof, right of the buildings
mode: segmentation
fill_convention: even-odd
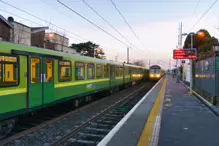
[[[103,49],[99,48],[99,45],[93,42],[85,42],[79,44],[72,44],[70,48],[75,49],[78,53],[84,56],[95,57],[99,59],[105,59]]]

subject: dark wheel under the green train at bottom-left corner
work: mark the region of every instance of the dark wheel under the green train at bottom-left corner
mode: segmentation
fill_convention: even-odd
[[[14,128],[17,118],[0,122],[0,139],[6,137]]]

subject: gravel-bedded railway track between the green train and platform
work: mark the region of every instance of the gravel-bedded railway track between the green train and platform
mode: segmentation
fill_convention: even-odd
[[[152,85],[154,85],[154,83],[147,83],[145,86],[147,87],[147,90],[149,90],[152,87]],[[121,93],[119,92],[118,93],[119,97],[117,98],[115,97],[115,99],[113,99],[112,97],[103,98],[97,102],[90,103],[74,111],[68,112],[59,117],[55,117],[51,119],[51,117],[54,116],[53,115],[49,118],[49,120],[42,122],[41,124],[38,125],[35,124],[31,128],[22,127],[24,129],[23,131],[0,141],[0,145],[12,146],[12,145],[34,144],[34,145],[42,146],[42,145],[51,145],[51,143],[55,145],[56,144],[55,142],[58,142],[60,138],[62,139],[63,137],[66,137],[67,135],[69,135],[69,133],[75,133],[73,134],[73,136],[76,137],[74,137],[71,140],[75,140],[76,143],[77,142],[80,143],[80,139],[81,139],[89,144],[90,142],[89,139],[92,137],[96,138],[97,141],[99,141],[109,132],[110,129],[113,128],[113,126],[116,125],[116,123],[118,122],[116,120],[120,120],[129,111],[131,106],[125,107],[125,101],[128,102],[128,99],[130,97],[139,93],[139,91],[142,90],[145,86],[142,86],[142,84],[136,85],[136,87],[135,86],[132,87],[133,89],[132,88],[126,89],[121,91]],[[121,95],[123,95],[124,93],[129,94],[125,97],[125,99],[121,97]],[[117,102],[115,103],[116,100]],[[110,103],[112,106],[108,107]],[[124,107],[121,107],[121,105],[124,105]],[[113,109],[114,111],[110,111]],[[110,119],[113,120],[112,123],[110,123]],[[83,124],[81,125],[81,123]],[[60,127],[60,125],[63,126]],[[100,128],[100,126],[102,127]],[[98,133],[95,132],[92,133],[95,127],[100,128],[99,132],[97,130]],[[90,132],[87,132],[86,130],[83,131],[82,130],[83,128]],[[56,131],[53,133],[51,132],[51,129],[55,129]],[[103,131],[101,131],[101,129]],[[80,136],[81,138],[79,138]],[[34,140],[36,139],[36,137],[38,139],[37,141]],[[88,139],[83,137],[86,137]]]

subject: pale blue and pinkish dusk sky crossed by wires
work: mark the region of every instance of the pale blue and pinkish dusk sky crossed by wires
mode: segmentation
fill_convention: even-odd
[[[49,23],[27,15],[0,1],[0,14],[5,18],[12,16],[15,21],[33,27],[49,26],[50,32],[58,31],[65,33],[67,37],[69,37],[70,43],[80,43],[87,40],[93,41],[104,49],[108,59],[114,60],[115,56],[118,55],[119,61],[126,61],[127,47],[124,44],[63,7],[56,0],[4,1],[45,19],[48,22],[56,24],[66,31],[63,32],[62,29],[56,26],[52,26]],[[128,41],[117,34],[108,24],[87,7],[82,0],[61,1],[113,36],[129,44]],[[156,64],[158,60],[162,60],[163,63],[161,65],[165,67],[168,66],[167,62],[169,59],[172,59],[173,49],[177,46],[179,22],[183,23],[183,32],[187,32],[214,1],[215,0],[114,0],[118,9],[142,41],[142,45],[113,7],[110,0],[86,0],[101,16],[109,21],[136,46],[133,46],[130,50],[130,60],[140,59],[146,62],[151,60],[151,64]],[[207,29],[211,35],[219,38],[219,30],[215,28],[219,27],[218,8],[219,3],[216,3],[192,31],[195,32],[201,28]],[[23,20],[3,10],[36,23]],[[83,37],[83,39],[75,36],[74,33]]]

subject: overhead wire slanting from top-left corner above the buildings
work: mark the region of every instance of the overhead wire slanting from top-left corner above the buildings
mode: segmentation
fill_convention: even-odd
[[[64,28],[61,28],[61,27],[57,26],[56,24],[53,24],[53,23],[51,23],[51,22],[48,22],[47,20],[44,20],[44,19],[42,19],[42,18],[40,18],[40,17],[38,17],[38,16],[36,16],[36,15],[33,15],[33,14],[27,12],[27,11],[24,11],[24,10],[22,10],[22,9],[20,9],[20,8],[14,6],[14,5],[11,5],[11,4],[9,4],[9,3],[3,1],[3,0],[0,0],[0,2],[6,4],[6,5],[10,6],[10,7],[13,7],[13,8],[15,8],[15,9],[17,9],[17,10],[23,12],[23,13],[26,13],[26,14],[28,14],[28,15],[34,17],[34,18],[37,18],[37,19],[39,19],[39,20],[41,20],[41,21],[44,21],[45,23],[50,23],[51,25],[53,25],[53,26],[55,26],[55,27],[57,27],[57,28],[59,28],[59,29],[62,29],[62,30],[64,30],[65,32],[69,32],[69,30],[66,30],[66,29],[64,29]],[[71,34],[73,34],[73,35],[75,35],[75,36],[81,38],[82,40],[87,40],[87,41],[88,41],[88,39],[85,39],[85,38],[81,37],[80,35],[78,35],[78,34],[76,34],[76,33],[73,33],[73,32],[69,32],[69,33],[71,33]]]

